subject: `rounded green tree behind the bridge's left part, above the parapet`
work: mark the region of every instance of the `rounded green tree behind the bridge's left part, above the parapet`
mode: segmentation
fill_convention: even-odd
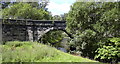
[[[33,8],[28,3],[17,3],[3,9],[3,18],[49,20],[51,15],[43,9]]]

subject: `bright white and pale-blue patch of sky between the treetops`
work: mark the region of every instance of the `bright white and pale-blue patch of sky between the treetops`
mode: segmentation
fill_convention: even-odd
[[[64,13],[68,13],[70,10],[70,6],[76,0],[49,0],[47,8],[48,11],[52,13],[52,15],[61,15]]]

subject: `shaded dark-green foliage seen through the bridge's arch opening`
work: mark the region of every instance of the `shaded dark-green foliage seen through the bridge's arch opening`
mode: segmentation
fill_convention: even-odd
[[[63,39],[62,31],[50,31],[42,37],[44,44],[50,44],[55,47],[59,47],[61,40]]]

